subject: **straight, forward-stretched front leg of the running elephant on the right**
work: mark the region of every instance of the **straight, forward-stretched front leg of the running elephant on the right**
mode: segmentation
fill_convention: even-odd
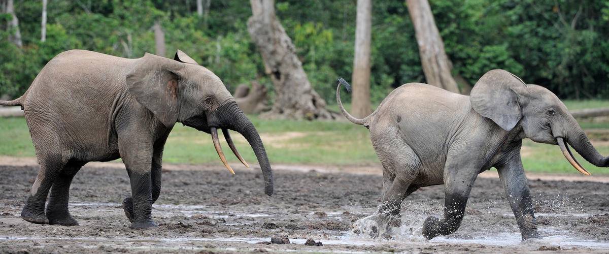
[[[537,221],[533,213],[533,202],[530,197],[529,184],[524,175],[520,153],[506,164],[497,167],[499,179],[505,188],[505,196],[512,206],[516,222],[523,239],[539,238]]]

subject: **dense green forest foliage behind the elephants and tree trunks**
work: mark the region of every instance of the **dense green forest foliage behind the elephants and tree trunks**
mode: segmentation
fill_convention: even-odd
[[[473,84],[486,71],[507,69],[561,98],[609,98],[609,2],[605,0],[429,0],[454,74]],[[277,0],[276,14],[294,42],[309,81],[334,104],[337,77],[351,77],[354,0]],[[232,91],[259,80],[273,94],[247,32],[244,1],[211,1],[208,17],[195,1],[54,0],[47,40],[40,41],[41,2],[16,0],[23,37],[8,37],[10,15],[0,14],[0,94],[21,95],[52,57],[88,49],[137,58],[154,52],[151,27],[160,21],[166,57],[182,49],[214,71]],[[375,1],[372,10],[373,102],[408,82],[425,82],[405,1]],[[348,95],[344,99],[348,101]]]

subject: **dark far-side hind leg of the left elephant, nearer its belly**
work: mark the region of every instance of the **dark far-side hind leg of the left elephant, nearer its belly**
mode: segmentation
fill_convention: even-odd
[[[51,187],[51,194],[49,195],[49,204],[46,206],[46,217],[49,218],[49,224],[63,226],[79,225],[68,211],[68,200],[72,178],[74,178],[74,175],[76,175],[82,165],[80,163],[68,164],[55,177],[55,182]]]

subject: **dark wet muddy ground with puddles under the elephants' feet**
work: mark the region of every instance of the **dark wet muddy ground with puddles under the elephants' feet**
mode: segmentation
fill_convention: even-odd
[[[275,172],[267,197],[257,170],[230,175],[221,166],[163,172],[153,206],[155,230],[130,230],[120,203],[130,193],[121,168],[83,168],[72,183],[70,210],[80,226],[35,225],[19,213],[37,174],[33,166],[0,166],[0,252],[487,252],[609,251],[609,185],[530,181],[543,239],[520,242],[498,179],[479,178],[462,226],[424,241],[421,224],[440,216],[443,186],[422,188],[403,205],[396,239],[351,233],[354,220],[379,203],[380,175]],[[177,167],[179,168],[179,167]],[[272,236],[292,244],[267,244]],[[323,246],[308,246],[312,238]],[[262,243],[261,243],[262,242]]]

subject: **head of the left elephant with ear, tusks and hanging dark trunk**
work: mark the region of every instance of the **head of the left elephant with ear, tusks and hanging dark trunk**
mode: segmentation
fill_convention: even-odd
[[[146,53],[135,60],[135,66],[128,73],[127,90],[167,127],[181,122],[211,133],[220,160],[233,174],[220,147],[217,130],[222,129],[228,146],[249,167],[239,155],[228,130],[241,133],[258,158],[264,176],[264,192],[269,196],[273,193],[273,173],[262,140],[222,80],[213,72],[180,50],[173,60]]]

